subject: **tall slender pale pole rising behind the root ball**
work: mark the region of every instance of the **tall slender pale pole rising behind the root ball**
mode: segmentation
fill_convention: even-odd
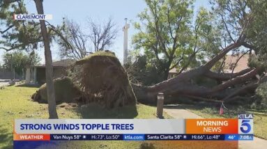
[[[123,26],[123,64],[125,65],[128,62],[128,29],[130,24],[127,23],[127,18],[125,18],[125,26]]]

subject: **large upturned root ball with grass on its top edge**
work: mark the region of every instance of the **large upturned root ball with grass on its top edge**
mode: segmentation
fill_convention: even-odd
[[[77,76],[85,102],[98,102],[107,108],[136,104],[128,75],[113,52],[90,54],[76,65],[82,66]]]

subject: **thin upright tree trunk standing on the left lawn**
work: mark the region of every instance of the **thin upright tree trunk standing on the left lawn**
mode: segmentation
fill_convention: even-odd
[[[44,14],[43,10],[43,0],[34,0],[36,3],[36,9],[38,14]],[[54,93],[54,83],[53,83],[53,65],[52,65],[52,55],[49,44],[49,36],[47,33],[47,28],[45,25],[45,20],[40,20],[40,28],[43,36],[43,42],[45,45],[45,76],[47,84],[47,102],[48,102],[48,112],[49,118],[59,118],[56,113],[56,100]]]

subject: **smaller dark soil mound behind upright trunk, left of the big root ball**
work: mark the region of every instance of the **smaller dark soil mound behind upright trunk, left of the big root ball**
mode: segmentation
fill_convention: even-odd
[[[79,88],[68,77],[54,79],[54,89],[57,103],[75,102],[75,99],[82,95]],[[47,103],[46,84],[40,86],[40,89],[31,98],[36,102]]]

